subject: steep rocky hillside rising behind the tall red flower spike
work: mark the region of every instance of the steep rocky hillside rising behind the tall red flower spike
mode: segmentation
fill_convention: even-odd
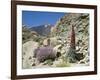
[[[75,29],[76,52],[88,56],[89,51],[89,14],[70,13],[63,16],[55,25],[56,33],[53,36],[60,36],[67,45],[71,44],[71,27]],[[66,46],[67,47],[67,46]],[[68,54],[68,52],[66,53]],[[72,55],[73,56],[73,55]],[[80,56],[79,56],[80,57]],[[75,61],[75,59],[74,59]]]

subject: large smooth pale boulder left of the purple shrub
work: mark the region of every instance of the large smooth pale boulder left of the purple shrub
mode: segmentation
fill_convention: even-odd
[[[35,62],[34,51],[39,47],[39,44],[35,41],[28,41],[22,46],[23,68],[31,68]]]

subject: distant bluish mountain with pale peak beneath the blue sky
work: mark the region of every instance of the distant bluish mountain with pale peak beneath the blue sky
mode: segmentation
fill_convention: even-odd
[[[47,25],[32,27],[30,28],[30,30],[36,31],[41,36],[47,36],[50,34],[51,27],[53,27],[53,25],[47,24]]]

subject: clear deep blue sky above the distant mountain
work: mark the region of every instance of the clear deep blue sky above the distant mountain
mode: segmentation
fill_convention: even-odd
[[[44,24],[55,25],[57,20],[64,15],[65,13],[61,12],[22,11],[22,24],[28,27]]]

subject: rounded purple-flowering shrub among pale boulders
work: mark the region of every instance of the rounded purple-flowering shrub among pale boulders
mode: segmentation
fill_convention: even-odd
[[[51,46],[40,47],[36,52],[36,58],[39,62],[44,62],[47,59],[54,60],[56,53]]]

